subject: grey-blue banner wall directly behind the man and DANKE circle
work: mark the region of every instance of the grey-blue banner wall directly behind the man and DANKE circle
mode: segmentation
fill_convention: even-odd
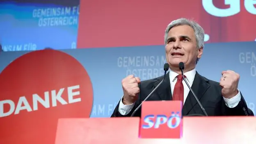
[[[93,85],[94,104],[91,117],[110,117],[123,95],[121,80],[134,74],[147,80],[163,75],[164,46],[89,48],[62,50],[75,57],[86,69]],[[0,71],[11,61],[29,51],[0,54]],[[256,42],[208,43],[197,64],[199,74],[219,82],[222,71],[240,74],[239,89],[248,107],[256,103]]]

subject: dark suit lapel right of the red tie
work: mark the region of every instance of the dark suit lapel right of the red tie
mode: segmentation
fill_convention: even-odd
[[[208,84],[208,79],[203,78],[201,75],[199,75],[199,73],[196,72],[194,82],[191,88],[196,94],[199,101],[209,87],[210,85]],[[183,115],[187,115],[196,104],[197,104],[197,101],[194,98],[192,92],[190,91],[182,109]]]

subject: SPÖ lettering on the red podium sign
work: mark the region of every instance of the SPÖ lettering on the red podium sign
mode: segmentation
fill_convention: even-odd
[[[171,112],[170,116],[164,114],[147,115],[144,117],[144,125],[142,128],[160,128],[160,126],[167,126],[168,128],[177,128],[181,123],[180,112]]]

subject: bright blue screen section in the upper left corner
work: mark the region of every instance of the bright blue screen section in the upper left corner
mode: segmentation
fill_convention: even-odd
[[[0,2],[4,51],[76,48],[80,0]]]

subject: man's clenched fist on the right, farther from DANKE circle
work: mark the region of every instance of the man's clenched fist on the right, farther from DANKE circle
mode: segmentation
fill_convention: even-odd
[[[238,81],[240,75],[234,71],[222,71],[219,85],[222,87],[222,96],[224,98],[233,98],[238,94]]]

